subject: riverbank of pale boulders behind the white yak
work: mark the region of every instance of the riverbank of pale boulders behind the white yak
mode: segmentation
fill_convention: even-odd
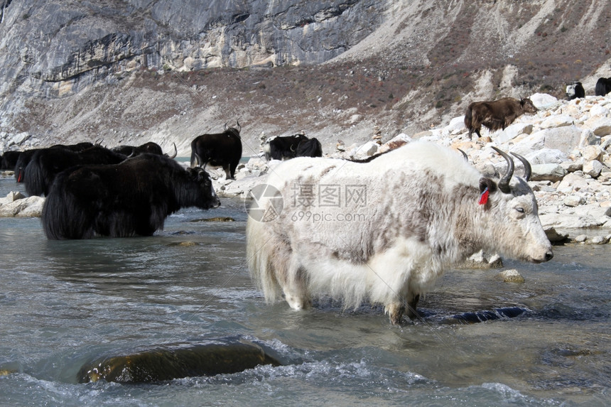
[[[464,151],[483,174],[499,176],[504,159],[492,150],[497,146],[526,157],[532,165],[531,186],[539,202],[539,214],[553,242],[607,244],[611,239],[611,97],[558,100],[548,94],[534,94],[531,100],[539,112],[521,116],[503,131],[482,138],[468,138],[463,116],[445,126],[418,134],[399,134],[383,141],[381,136],[362,144],[338,142],[329,158],[366,158],[413,140],[428,140]],[[248,197],[256,185],[265,183],[270,168],[253,156],[241,164],[236,180],[225,179],[222,171],[209,168],[215,190],[221,197]],[[520,169],[517,168],[517,173]],[[11,192],[0,198],[0,216],[40,216],[43,198],[23,197]]]

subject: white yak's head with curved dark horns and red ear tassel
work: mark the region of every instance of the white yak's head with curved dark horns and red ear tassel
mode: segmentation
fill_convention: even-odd
[[[488,212],[487,249],[502,251],[516,259],[541,263],[551,260],[551,243],[539,219],[539,207],[527,181],[531,166],[526,158],[512,153],[524,164],[524,178],[513,177],[513,159],[494,148],[507,161],[507,173],[495,183],[490,178],[480,179],[480,205]],[[490,198],[490,199],[489,199]]]

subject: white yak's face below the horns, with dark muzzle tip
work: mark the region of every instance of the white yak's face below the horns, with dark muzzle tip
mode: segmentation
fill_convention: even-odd
[[[514,177],[509,192],[490,194],[490,222],[494,231],[489,249],[504,251],[515,259],[541,263],[553,253],[541,220],[534,194],[522,178]]]

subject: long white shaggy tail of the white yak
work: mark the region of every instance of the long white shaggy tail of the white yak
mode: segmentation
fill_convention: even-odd
[[[250,276],[255,286],[263,291],[266,303],[274,303],[281,298],[281,288],[276,279],[272,254],[274,239],[269,239],[264,222],[249,217],[246,225],[246,256]]]

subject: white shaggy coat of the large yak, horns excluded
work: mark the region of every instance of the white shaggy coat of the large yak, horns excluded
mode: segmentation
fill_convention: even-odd
[[[416,308],[418,295],[430,291],[446,268],[477,250],[548,259],[551,245],[524,180],[514,178],[512,193],[493,190],[487,205],[478,205],[481,179],[459,153],[423,142],[369,163],[286,161],[268,181],[281,191],[279,217],[248,220],[252,277],[268,301],[283,293],[294,309],[321,295],[346,307],[382,303],[398,323],[406,304]],[[338,206],[324,205],[330,201],[321,191],[328,187],[339,191]],[[366,205],[347,200],[350,188],[365,189]],[[407,313],[415,316],[414,309]]]

